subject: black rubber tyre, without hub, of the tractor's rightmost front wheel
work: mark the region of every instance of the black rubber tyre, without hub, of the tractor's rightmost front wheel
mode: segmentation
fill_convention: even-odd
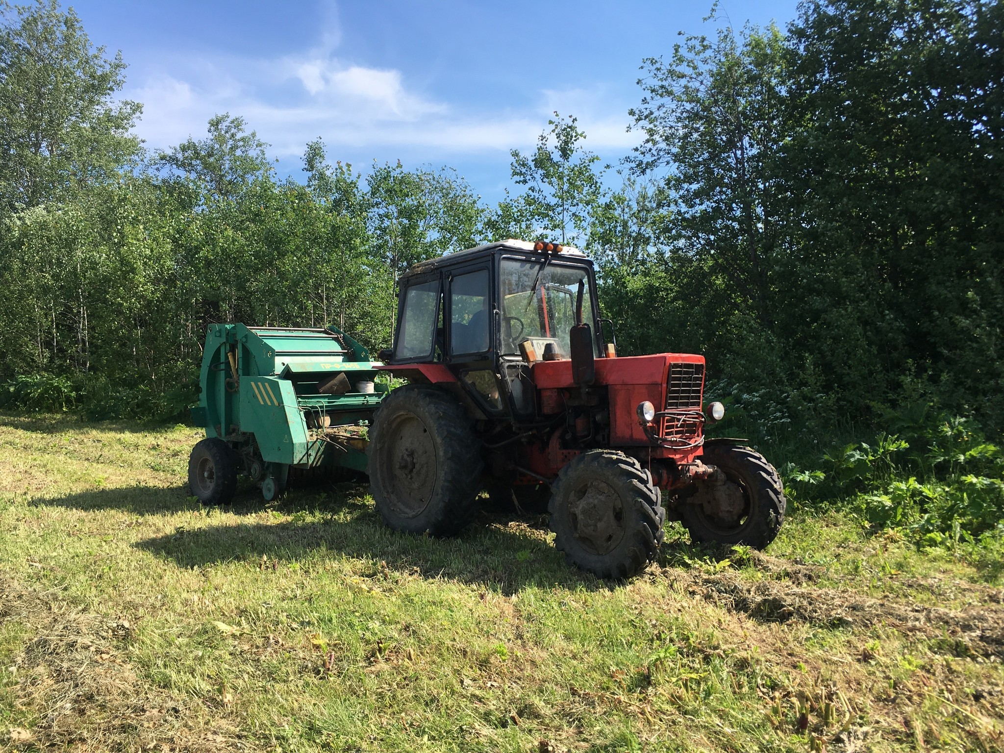
[[[760,453],[740,445],[709,445],[702,460],[721,469],[742,490],[744,508],[736,524],[729,525],[709,515],[702,504],[685,502],[680,515],[691,540],[763,549],[781,529],[787,504],[774,466]]]

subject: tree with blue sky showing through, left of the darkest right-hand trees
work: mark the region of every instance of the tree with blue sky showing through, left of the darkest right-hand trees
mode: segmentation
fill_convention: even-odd
[[[668,61],[647,58],[645,68],[645,95],[630,110],[645,139],[629,164],[638,175],[665,171],[674,253],[698,260],[771,328],[771,260],[782,241],[784,36],[775,26],[687,36]]]

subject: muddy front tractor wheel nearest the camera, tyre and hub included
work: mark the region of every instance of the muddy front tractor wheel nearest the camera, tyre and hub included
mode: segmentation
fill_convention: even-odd
[[[554,545],[601,578],[628,578],[656,558],[666,512],[652,474],[610,450],[572,459],[551,487]]]

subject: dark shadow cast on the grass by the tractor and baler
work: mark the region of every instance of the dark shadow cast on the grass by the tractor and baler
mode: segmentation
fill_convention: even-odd
[[[232,505],[219,508],[237,515],[236,520],[179,528],[135,546],[180,567],[257,563],[262,555],[280,565],[347,558],[358,561],[348,563],[346,569],[360,574],[390,568],[424,578],[483,584],[506,595],[526,586],[608,587],[565,562],[564,555],[547,540],[545,516],[514,518],[483,512],[457,537],[417,536],[388,528],[367,493],[366,486],[357,483],[301,482],[280,500],[268,503],[257,489],[245,486]],[[212,516],[215,509],[204,508],[180,486],[100,489],[39,499],[34,504],[84,511],[121,510],[134,515],[206,509]],[[259,522],[262,518],[257,517],[254,522],[241,522],[241,516],[267,511],[282,513],[283,520]]]

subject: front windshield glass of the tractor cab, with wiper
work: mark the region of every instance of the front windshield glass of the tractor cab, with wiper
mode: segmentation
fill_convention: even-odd
[[[559,356],[567,358],[568,330],[575,324],[575,305],[582,286],[582,321],[592,324],[592,296],[585,267],[563,266],[554,261],[503,259],[502,353],[518,354],[519,343],[533,340],[542,352],[553,342]],[[595,342],[593,342],[595,349]]]

